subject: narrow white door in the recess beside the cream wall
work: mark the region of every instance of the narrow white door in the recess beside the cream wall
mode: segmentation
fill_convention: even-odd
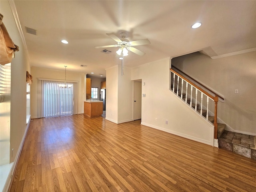
[[[141,119],[141,80],[133,81],[133,120]]]

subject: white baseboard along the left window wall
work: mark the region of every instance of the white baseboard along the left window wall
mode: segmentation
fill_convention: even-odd
[[[16,166],[18,164],[18,160],[20,158],[20,153],[21,153],[21,150],[22,150],[22,147],[23,147],[23,144],[24,144],[24,140],[26,138],[26,135],[27,135],[27,132],[28,132],[28,127],[30,125],[30,119],[28,121],[28,124],[26,124],[26,129],[25,129],[25,132],[24,132],[24,135],[23,135],[23,138],[21,140],[21,143],[20,143],[20,147],[18,148],[18,151],[17,151],[17,154],[16,154],[16,157],[14,159],[14,162],[12,164],[12,168],[10,170],[10,173],[8,175],[8,178],[6,180],[6,183],[4,185],[4,189],[3,189],[3,192],[8,192],[9,191],[9,188],[10,188],[10,185],[12,183],[12,178],[13,178],[13,175],[14,175],[14,171],[16,169]]]

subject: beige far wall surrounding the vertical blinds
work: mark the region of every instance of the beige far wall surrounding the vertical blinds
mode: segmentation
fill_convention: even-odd
[[[38,118],[38,78],[64,80],[65,70],[50,70],[46,68],[31,68],[33,83],[30,86],[31,118]],[[84,113],[84,78],[82,73],[66,71],[66,80],[78,81],[78,114]]]

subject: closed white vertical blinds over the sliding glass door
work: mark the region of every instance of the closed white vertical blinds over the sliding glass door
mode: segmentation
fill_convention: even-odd
[[[39,79],[39,118],[77,114],[77,82],[67,82],[69,88],[53,80]]]

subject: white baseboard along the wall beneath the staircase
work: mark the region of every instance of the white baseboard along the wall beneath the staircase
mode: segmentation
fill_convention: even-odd
[[[193,140],[193,141],[197,141],[197,142],[200,142],[200,143],[204,143],[204,144],[213,146],[213,143],[211,141],[208,141],[208,140],[203,140],[203,139],[196,138],[196,137],[193,137],[193,136],[190,136],[190,135],[187,135],[187,134],[183,134],[183,133],[180,133],[180,132],[176,132],[176,131],[165,129],[165,128],[162,128],[162,127],[150,125],[150,124],[147,124],[145,122],[141,122],[141,124],[145,125],[145,126],[148,126],[148,127],[151,127],[151,128],[154,128],[154,129],[164,131],[164,132],[168,132],[170,134],[174,134],[174,135],[186,138],[186,139],[190,139],[190,140]]]

